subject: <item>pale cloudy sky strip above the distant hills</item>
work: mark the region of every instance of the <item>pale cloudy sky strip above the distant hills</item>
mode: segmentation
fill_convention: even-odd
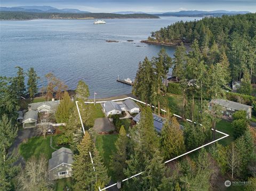
[[[177,12],[227,10],[256,12],[256,0],[1,0],[1,6],[48,5],[90,12]]]

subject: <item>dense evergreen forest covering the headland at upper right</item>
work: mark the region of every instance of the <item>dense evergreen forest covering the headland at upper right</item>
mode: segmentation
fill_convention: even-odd
[[[152,32],[148,40],[173,44],[191,44],[197,40],[206,64],[212,62],[209,57],[214,55],[217,59],[214,62],[218,62],[225,52],[230,62],[231,80],[241,80],[244,71],[248,70],[252,82],[256,81],[253,68],[256,55],[255,13],[180,21]]]

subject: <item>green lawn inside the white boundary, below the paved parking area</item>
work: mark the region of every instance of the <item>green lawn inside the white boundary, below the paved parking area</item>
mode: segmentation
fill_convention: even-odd
[[[108,175],[111,176],[113,172],[110,170],[110,155],[115,152],[115,142],[118,135],[97,135],[96,137],[96,147],[102,157],[102,160],[106,167],[108,168]],[[111,176],[113,177],[113,176]]]

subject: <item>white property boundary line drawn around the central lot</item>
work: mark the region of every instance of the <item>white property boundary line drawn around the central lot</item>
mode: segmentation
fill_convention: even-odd
[[[126,97],[126,98],[122,98],[122,99],[113,99],[113,100],[111,100],[111,101],[113,101],[113,102],[116,102],[116,101],[124,101],[124,100],[126,100],[126,99],[133,99],[134,101],[137,101],[137,102],[146,104],[145,102],[142,102],[142,101],[140,101],[140,100],[138,100],[138,99],[135,99],[135,98],[133,98],[133,97]],[[78,102],[78,101],[76,101],[76,106],[77,106],[79,118],[80,118],[80,120],[81,120],[82,127],[83,127],[83,131],[84,131],[83,121],[82,121],[82,118],[81,118],[81,115],[80,115],[80,112],[79,112],[79,108],[78,108],[77,102]],[[107,101],[98,101],[98,102],[95,102],[95,103],[105,103],[105,102],[107,102]],[[94,102],[84,102],[84,103],[92,104],[92,103],[94,103]],[[149,104],[147,104],[147,105],[149,105]],[[154,107],[154,106],[152,106],[152,107]],[[156,108],[157,108],[157,107],[156,107]],[[163,110],[163,109],[161,109],[161,111],[166,112],[166,110]],[[177,114],[173,114],[173,115],[174,115],[175,117],[178,117],[178,118],[181,118],[181,119],[182,119],[182,117],[181,117],[180,115],[177,115]],[[193,122],[193,121],[191,121],[190,119],[186,119],[186,120],[189,121],[189,122]],[[194,122],[194,123],[196,123],[196,122]],[[200,124],[200,125],[202,126],[202,124]],[[214,129],[211,129],[211,130],[214,131]],[[192,153],[192,152],[194,152],[194,151],[197,151],[197,150],[199,150],[200,148],[203,148],[203,147],[205,147],[205,146],[207,146],[207,145],[211,145],[211,144],[213,144],[213,143],[215,143],[215,142],[218,142],[219,140],[221,140],[221,139],[226,138],[226,137],[229,136],[228,134],[225,134],[225,132],[221,132],[221,131],[218,131],[218,130],[215,130],[215,131],[216,131],[216,132],[219,132],[220,134],[225,135],[225,136],[220,137],[220,138],[218,138],[218,139],[216,139],[216,140],[213,140],[212,142],[207,143],[207,144],[205,144],[205,145],[199,146],[199,147],[195,148],[194,150],[191,150],[191,151],[189,151],[189,152],[187,152],[187,153],[183,153],[183,154],[181,154],[181,155],[179,155],[179,156],[177,156],[177,157],[174,157],[173,159],[170,159],[170,160],[168,160],[168,161],[165,161],[164,163],[165,163],[165,164],[166,164],[166,163],[169,163],[169,162],[171,162],[171,161],[173,161],[173,160],[178,159],[178,158],[181,157],[181,156],[185,156],[185,155],[187,155],[187,154],[189,154],[189,153]],[[84,133],[85,133],[85,131],[84,131]],[[91,159],[91,160],[92,160],[92,159]],[[136,174],[136,175],[133,175],[133,176],[131,176],[131,177],[129,177],[129,178],[126,178],[126,179],[122,180],[122,182],[124,182],[124,181],[126,181],[126,180],[129,180],[129,179],[131,179],[131,178],[137,177],[137,176],[141,175],[143,172],[144,172],[144,171],[142,171],[142,172],[140,172],[140,173],[138,173],[138,174]],[[99,187],[99,191],[106,190],[106,189],[108,189],[108,188],[110,188],[110,187],[113,187],[113,186],[115,186],[115,185],[117,185],[117,183],[115,183],[115,184],[113,184],[113,185],[109,185],[108,187],[105,187],[105,188],[102,188],[102,189]]]

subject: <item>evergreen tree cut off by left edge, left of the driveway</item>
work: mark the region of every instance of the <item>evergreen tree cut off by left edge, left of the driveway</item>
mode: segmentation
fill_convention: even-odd
[[[6,114],[0,119],[0,152],[7,151],[17,137],[18,128],[13,125]]]

